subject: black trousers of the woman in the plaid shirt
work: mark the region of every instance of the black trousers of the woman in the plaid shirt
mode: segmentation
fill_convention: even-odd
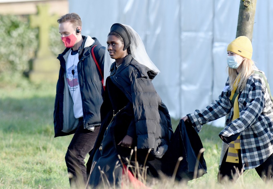
[[[241,150],[239,150],[239,163],[230,163],[226,162],[228,156],[228,150],[223,158],[222,164],[220,166],[218,172],[218,182],[222,182],[224,177],[227,177],[228,180],[237,180],[238,177],[241,175],[241,171],[243,168],[242,160],[241,160]],[[255,168],[258,175],[261,177],[262,180],[269,181],[272,179],[273,176],[273,154],[271,154],[264,163],[259,165]]]

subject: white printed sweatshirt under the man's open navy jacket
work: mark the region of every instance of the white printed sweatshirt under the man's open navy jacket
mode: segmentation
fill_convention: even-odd
[[[71,51],[69,53],[67,64],[66,64],[66,81],[70,95],[72,96],[74,106],[74,116],[79,118],[83,116],[82,113],[82,97],[80,95],[80,85],[78,81],[78,62],[79,53],[78,51]],[[73,71],[74,70],[74,71]],[[74,75],[73,75],[74,72]]]

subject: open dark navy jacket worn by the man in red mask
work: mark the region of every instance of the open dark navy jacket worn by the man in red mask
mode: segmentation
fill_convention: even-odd
[[[96,60],[103,72],[104,70],[104,54],[103,47],[98,39],[92,44],[90,36],[82,36],[83,43],[78,49],[78,82],[80,85],[80,94],[82,97],[82,110],[84,129],[92,126],[100,126],[100,106],[103,102],[104,89],[102,86],[102,77],[92,58],[91,49],[94,48]],[[92,44],[92,45],[91,45]],[[66,81],[66,61],[71,48],[66,48],[62,54],[57,57],[60,60],[59,79],[56,86],[56,98],[54,107],[54,130],[55,137],[70,135],[75,133],[78,126],[78,119],[74,117],[73,100],[69,94]]]

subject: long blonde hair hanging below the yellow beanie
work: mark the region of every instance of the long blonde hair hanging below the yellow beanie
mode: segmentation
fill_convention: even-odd
[[[241,63],[240,66],[242,66],[241,68],[241,79],[240,82],[238,83],[238,87],[237,87],[237,92],[239,93],[240,91],[243,91],[245,85],[247,84],[247,79],[249,78],[249,76],[251,74],[254,73],[254,68],[253,68],[254,62],[250,59],[245,59],[243,60],[243,62]],[[229,76],[229,87],[230,90],[233,90],[233,84],[235,82],[236,77],[238,76],[237,74],[237,70],[236,69],[232,69],[232,68],[228,68],[228,76]]]

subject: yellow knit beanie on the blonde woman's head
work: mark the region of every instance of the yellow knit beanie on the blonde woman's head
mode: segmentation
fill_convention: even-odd
[[[252,45],[251,41],[246,36],[239,36],[234,39],[228,45],[227,51],[231,51],[235,54],[239,54],[247,59],[251,60],[252,57]]]

